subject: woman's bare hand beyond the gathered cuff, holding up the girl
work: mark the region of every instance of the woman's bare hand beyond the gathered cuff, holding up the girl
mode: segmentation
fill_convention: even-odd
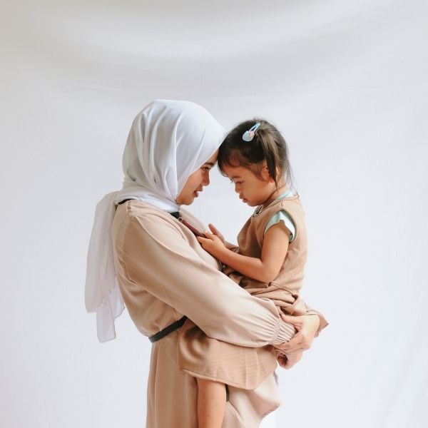
[[[290,342],[275,345],[275,348],[281,350],[284,354],[296,354],[297,352],[308,350],[320,326],[320,317],[317,315],[300,315],[299,317],[281,315],[281,318],[283,321],[294,325],[297,333]]]

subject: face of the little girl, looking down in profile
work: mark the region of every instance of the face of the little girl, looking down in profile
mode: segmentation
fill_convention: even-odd
[[[261,171],[261,179],[243,166],[223,167],[223,173],[235,184],[235,192],[251,207],[263,205],[275,193],[275,181],[270,177],[267,166]]]

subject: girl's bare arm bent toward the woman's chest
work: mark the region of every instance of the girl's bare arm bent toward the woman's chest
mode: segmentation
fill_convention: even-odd
[[[284,263],[290,230],[282,221],[272,225],[265,233],[261,258],[235,253],[225,246],[217,233],[204,232],[204,234],[207,238],[198,238],[204,250],[242,275],[268,283],[277,277]]]

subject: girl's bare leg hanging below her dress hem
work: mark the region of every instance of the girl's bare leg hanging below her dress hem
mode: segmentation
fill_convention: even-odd
[[[225,416],[225,384],[198,380],[198,428],[221,428]]]

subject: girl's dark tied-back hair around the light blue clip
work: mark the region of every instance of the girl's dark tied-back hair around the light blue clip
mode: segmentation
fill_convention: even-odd
[[[255,131],[253,140],[244,141],[243,133],[260,123]],[[261,178],[263,163],[266,162],[269,175],[275,180],[278,187],[280,178],[285,175],[288,187],[294,189],[294,180],[288,157],[287,143],[280,131],[263,119],[254,118],[235,126],[228,133],[218,151],[218,168],[223,171],[224,166],[243,166],[253,171],[258,178]]]

